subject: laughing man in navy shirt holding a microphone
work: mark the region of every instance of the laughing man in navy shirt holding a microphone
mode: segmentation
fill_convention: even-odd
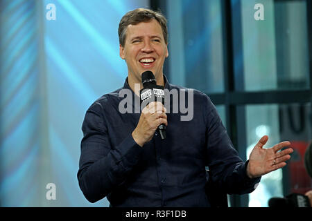
[[[210,206],[205,166],[210,179],[225,192],[243,194],[254,190],[261,175],[286,165],[293,150],[279,150],[290,143],[265,149],[267,136],[243,162],[216,108],[198,90],[185,97],[193,99],[194,116],[189,121],[181,120],[182,113],[166,113],[159,102],[150,103],[141,113],[122,114],[119,93],[128,89],[132,96],[126,99],[135,100],[146,70],[169,91],[184,88],[169,84],[163,74],[168,34],[162,15],[146,9],[128,12],[119,23],[119,42],[128,78],[123,88],[94,102],[83,122],[78,181],[89,202],[107,196],[110,206]],[[167,126],[166,140],[157,135],[160,124]]]

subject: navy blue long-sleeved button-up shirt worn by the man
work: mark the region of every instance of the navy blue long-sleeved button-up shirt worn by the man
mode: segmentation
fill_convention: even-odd
[[[169,84],[165,76],[164,81],[169,91],[189,90]],[[128,79],[123,88],[130,90]],[[155,133],[141,147],[131,135],[140,117],[135,113],[138,96],[131,90],[131,96],[119,97],[123,88],[97,99],[85,115],[77,176],[89,202],[107,196],[110,206],[209,206],[206,166],[211,180],[226,193],[254,190],[261,177],[246,175],[248,161],[243,162],[234,149],[207,95],[193,90],[189,121],[182,121],[186,114],[176,113],[171,105],[166,140]],[[169,97],[173,104],[173,96]],[[121,113],[119,104],[127,99],[132,100],[132,113]]]

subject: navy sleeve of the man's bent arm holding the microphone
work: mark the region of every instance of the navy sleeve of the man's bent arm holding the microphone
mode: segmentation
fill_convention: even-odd
[[[88,109],[83,121],[83,140],[80,146],[78,183],[85,198],[96,202],[125,182],[139,161],[141,146],[131,133],[112,146],[100,103]]]

